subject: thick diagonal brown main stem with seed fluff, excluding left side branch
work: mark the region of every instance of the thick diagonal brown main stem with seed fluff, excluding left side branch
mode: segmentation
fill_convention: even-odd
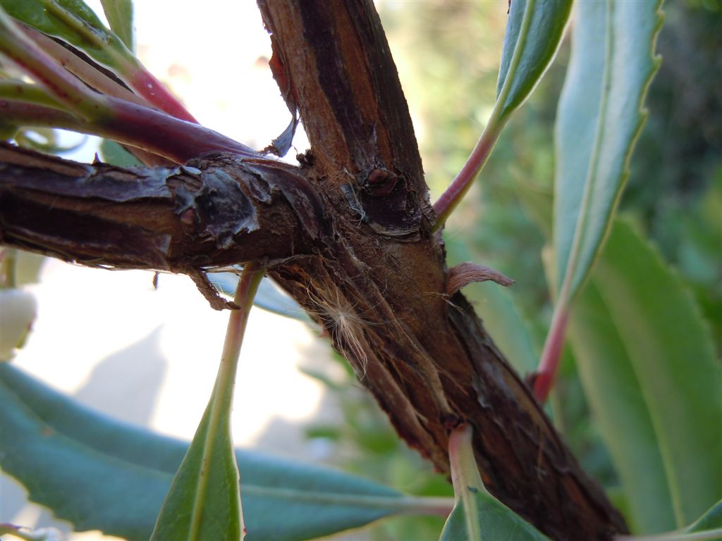
[[[421,159],[373,3],[258,4],[277,82],[316,157],[306,175],[335,232],[322,257],[271,273],[439,470],[449,471],[449,431],[469,422],[484,484],[547,535],[625,531],[464,296],[445,294],[445,253],[430,232]]]

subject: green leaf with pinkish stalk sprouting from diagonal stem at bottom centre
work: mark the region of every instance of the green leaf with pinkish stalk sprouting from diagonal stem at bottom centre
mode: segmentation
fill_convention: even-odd
[[[492,496],[479,476],[471,428],[456,428],[449,439],[456,505],[440,541],[541,541],[549,538]]]

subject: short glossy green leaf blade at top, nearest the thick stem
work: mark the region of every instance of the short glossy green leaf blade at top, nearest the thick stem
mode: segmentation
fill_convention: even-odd
[[[557,55],[572,9],[572,0],[514,0],[501,53],[497,82],[500,122],[534,91]]]

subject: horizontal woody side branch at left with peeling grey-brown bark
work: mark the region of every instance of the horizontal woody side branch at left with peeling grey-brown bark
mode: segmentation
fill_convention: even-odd
[[[224,154],[128,170],[0,143],[0,242],[112,268],[273,263],[309,252],[318,228],[316,214],[293,211],[289,178],[282,164]]]

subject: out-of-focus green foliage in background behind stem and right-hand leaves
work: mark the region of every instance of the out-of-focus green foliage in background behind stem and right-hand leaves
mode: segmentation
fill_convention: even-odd
[[[379,7],[434,201],[464,164],[491,113],[506,3],[385,1]],[[632,156],[620,210],[660,247],[695,292],[719,353],[722,9],[709,0],[669,1],[664,12],[658,39],[663,63],[648,93],[650,116]],[[527,214],[519,193],[551,197],[553,126],[568,45],[562,45],[529,102],[510,120],[479,182],[445,230],[447,238],[468,245],[477,263],[516,279],[510,291],[539,349],[552,309],[541,263],[549,231],[544,231],[544,219]],[[313,428],[308,436],[333,442],[334,461],[345,470],[409,493],[451,495],[451,485],[397,439],[354,375],[347,375],[347,381],[334,384],[346,422]],[[568,348],[551,402],[554,422],[583,467],[623,511],[617,475],[589,416]],[[375,526],[369,536],[433,539],[440,527],[438,519],[402,517]]]

